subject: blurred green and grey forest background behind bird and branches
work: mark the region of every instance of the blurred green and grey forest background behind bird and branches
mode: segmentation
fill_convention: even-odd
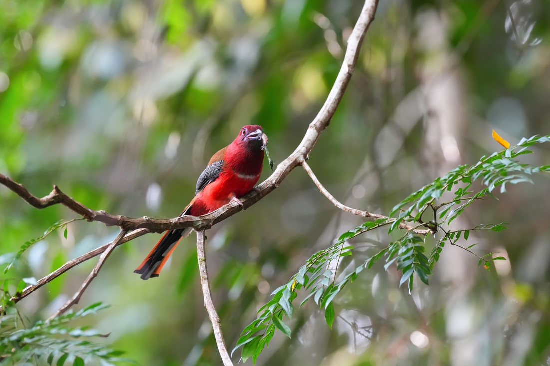
[[[298,145],[342,64],[362,8],[351,0],[0,0],[0,172],[37,196],[57,184],[95,209],[177,216],[210,156],[261,124],[275,163]],[[349,206],[389,213],[458,164],[550,127],[550,3],[381,0],[355,74],[310,156]],[[531,162],[548,164],[548,148]],[[267,163],[262,180],[271,173]],[[453,223],[508,221],[470,236],[487,271],[445,247],[431,285],[409,295],[394,268],[363,271],[324,312],[306,304],[259,365],[550,365],[550,182],[509,187]],[[74,213],[37,210],[0,186],[2,254]],[[270,293],[361,218],[337,210],[302,169],[208,231],[208,264],[228,346]],[[77,221],[27,251],[13,278],[41,278],[112,240]],[[94,326],[141,365],[218,365],[193,236],[160,278],[135,267],[160,236],[119,247],[81,304],[112,304]],[[356,262],[392,238],[359,237]],[[34,321],[72,296],[79,265],[19,303]],[[343,269],[345,271],[345,269]],[[4,276],[4,275],[2,275]],[[89,319],[89,321],[90,321]],[[238,361],[240,350],[235,352]],[[246,364],[251,364],[249,360]]]

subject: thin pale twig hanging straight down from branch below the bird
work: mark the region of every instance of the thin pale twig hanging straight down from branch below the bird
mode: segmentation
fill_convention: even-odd
[[[197,230],[197,256],[199,258],[199,271],[201,274],[202,295],[205,298],[205,307],[210,316],[210,321],[214,328],[216,343],[218,343],[219,354],[222,356],[223,364],[233,366],[231,356],[227,352],[226,341],[223,339],[222,322],[219,319],[218,312],[212,300],[212,291],[210,289],[210,279],[208,279],[208,268],[206,265],[206,247],[205,247],[205,230]]]

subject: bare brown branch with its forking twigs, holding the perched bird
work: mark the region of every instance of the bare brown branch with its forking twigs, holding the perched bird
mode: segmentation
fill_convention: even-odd
[[[255,204],[261,198],[265,197],[268,193],[277,188],[279,184],[281,184],[281,182],[288,176],[290,171],[292,171],[299,165],[302,165],[306,169],[306,171],[310,173],[311,168],[309,168],[306,160],[309,158],[309,154],[315,146],[319,136],[321,135],[321,132],[324,131],[324,129],[326,129],[326,127],[328,126],[334,113],[336,112],[340,101],[342,100],[346,87],[348,86],[351,79],[351,75],[353,74],[353,71],[355,69],[357,58],[359,57],[359,52],[361,49],[361,43],[365,37],[368,27],[375,19],[377,7],[378,0],[365,1],[365,5],[361,11],[359,19],[357,20],[357,24],[355,25],[355,28],[348,39],[348,48],[346,49],[342,68],[340,69],[338,77],[334,82],[334,86],[332,87],[332,90],[329,93],[326,102],[324,103],[320,112],[317,114],[317,117],[309,125],[309,128],[307,129],[306,134],[304,135],[304,138],[301,141],[300,145],[295,149],[292,154],[290,154],[288,158],[284,159],[281,164],[278,165],[277,169],[273,172],[270,178],[268,178],[257,187],[259,193],[251,192],[249,193],[249,195],[241,198],[243,206],[240,206],[238,203],[229,203],[226,206],[216,210],[215,212],[201,216],[200,218],[193,216],[184,216],[162,220],[152,219],[146,216],[141,218],[130,218],[124,215],[109,214],[104,210],[90,209],[84,206],[84,204],[76,202],[72,197],[65,195],[65,193],[63,193],[57,186],[54,186],[53,191],[49,195],[38,198],[32,195],[23,185],[18,184],[7,176],[0,174],[1,184],[10,188],[10,190],[17,193],[21,198],[25,199],[25,201],[29,202],[32,206],[36,208],[45,208],[48,206],[52,206],[53,204],[63,204],[65,207],[73,210],[73,212],[83,216],[89,221],[100,221],[102,223],[105,223],[107,226],[119,226],[121,229],[119,236],[113,242],[94,249],[93,251],[90,251],[83,256],[69,260],[69,262],[65,263],[61,268],[39,280],[36,285],[28,286],[26,289],[23,290],[22,293],[18,294],[18,296],[15,296],[12,300],[14,300],[15,302],[21,300],[22,298],[28,296],[30,293],[36,291],[47,282],[50,282],[65,271],[73,268],[75,265],[103,253],[100,260],[98,260],[96,267],[94,268],[94,270],[92,270],[92,273],[84,281],[84,284],[81,286],[80,290],[75,293],[71,300],[69,300],[61,309],[58,310],[58,313],[62,313],[74,303],[78,302],[86,287],[90,284],[91,280],[95,278],[98,271],[101,269],[101,266],[103,265],[103,263],[105,263],[108,255],[113,251],[115,247],[124,242],[133,240],[136,237],[147,234],[148,232],[163,232],[166,230],[186,227],[195,228],[197,230],[197,250],[199,251],[199,263],[204,264],[204,270],[206,271],[206,256],[204,254],[204,230],[211,228],[212,225],[218,223],[219,221],[227,219],[228,217],[239,212],[241,209],[246,209],[252,206],[252,204]],[[322,187],[320,182],[312,173],[313,172],[311,171],[310,176],[313,181],[329,199],[331,199],[332,197],[331,201],[335,203],[336,206],[340,209],[344,209],[351,213],[359,213],[364,217],[386,218],[382,215],[356,210],[339,203],[332,195],[330,195],[330,193],[328,193],[328,191],[324,187]],[[409,229],[408,226],[406,226],[405,229]],[[201,245],[203,249],[203,254],[201,254]],[[230,357],[227,354],[225,344],[223,342],[222,329],[221,326],[219,326],[219,317],[217,317],[217,314],[213,316],[213,313],[211,313],[212,309],[214,310],[214,312],[216,309],[213,306],[211,296],[207,296],[207,293],[211,294],[210,283],[207,280],[207,277],[202,276],[202,272],[201,281],[205,295],[205,303],[207,302],[208,298],[207,309],[215,328],[218,348],[220,350],[220,353],[222,354],[224,363],[226,365],[232,364]],[[223,352],[223,350],[225,350],[225,352]],[[227,357],[229,357],[228,360]]]

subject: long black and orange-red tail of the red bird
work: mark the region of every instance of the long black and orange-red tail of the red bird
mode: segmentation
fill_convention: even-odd
[[[184,212],[180,216],[191,214],[191,204],[185,208]],[[157,245],[153,248],[151,253],[145,258],[145,260],[134,271],[141,274],[141,278],[144,280],[151,277],[158,277],[161,273],[162,267],[166,264],[168,258],[171,256],[175,247],[178,246],[182,237],[188,236],[193,228],[183,228],[169,230],[164,234]]]

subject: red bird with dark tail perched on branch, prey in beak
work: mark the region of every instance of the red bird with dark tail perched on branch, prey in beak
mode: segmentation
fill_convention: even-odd
[[[231,143],[218,151],[206,169],[199,176],[195,198],[183,210],[183,215],[200,216],[213,212],[231,201],[250,192],[260,179],[263,168],[264,148],[267,135],[259,125],[244,126]],[[157,277],[168,257],[182,237],[188,236],[193,228],[167,231],[162,239],[134,271],[146,280]]]

